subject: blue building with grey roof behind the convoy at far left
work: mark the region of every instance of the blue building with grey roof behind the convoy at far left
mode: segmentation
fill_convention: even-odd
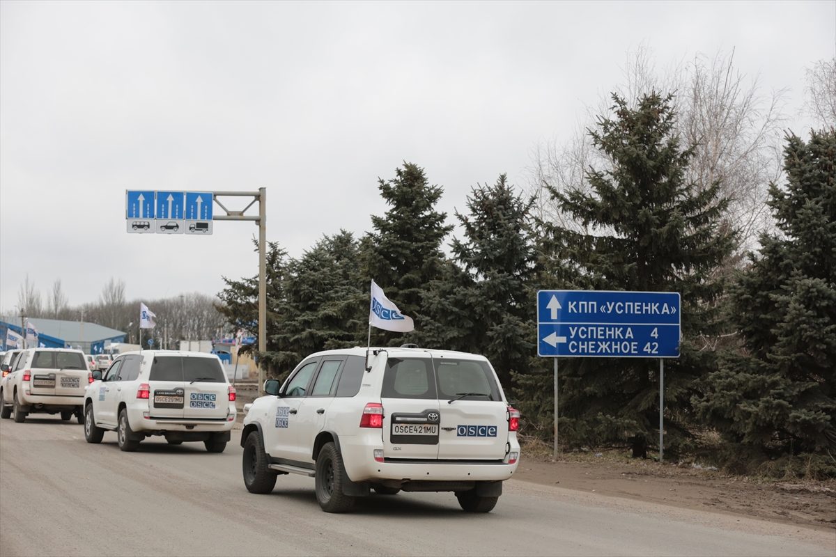
[[[39,347],[79,348],[85,354],[107,352],[106,349],[110,347],[112,342],[125,342],[125,335],[127,334],[89,322],[42,319],[40,317],[29,318],[28,322],[38,329]],[[3,350],[13,348],[6,346],[6,333],[9,329],[21,334],[20,317],[0,317],[0,347],[3,347]]]

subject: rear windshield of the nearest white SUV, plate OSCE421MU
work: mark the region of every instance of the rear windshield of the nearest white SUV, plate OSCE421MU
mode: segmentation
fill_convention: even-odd
[[[389,358],[380,397],[502,400],[487,362],[450,358]]]

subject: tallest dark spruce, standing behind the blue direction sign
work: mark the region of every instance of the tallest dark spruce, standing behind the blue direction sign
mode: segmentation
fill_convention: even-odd
[[[731,253],[734,235],[721,230],[727,202],[717,199],[719,183],[698,190],[686,180],[694,148],[683,149],[673,132],[671,99],[650,94],[631,109],[613,95],[614,116],[599,117],[589,132],[611,168],[589,170],[590,193],[551,192],[584,231],[545,225],[544,246],[572,262],[560,266],[575,271],[564,276],[566,288],[681,293],[681,357],[665,365],[665,441],[676,452],[690,445],[695,380],[714,365],[699,339],[718,332],[711,304],[722,284],[712,273]],[[644,457],[658,438],[659,362],[563,358],[559,369],[563,438],[627,441]]]

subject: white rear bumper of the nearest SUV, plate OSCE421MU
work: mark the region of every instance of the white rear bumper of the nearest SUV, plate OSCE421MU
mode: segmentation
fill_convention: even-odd
[[[433,481],[504,481],[511,479],[517,470],[519,461],[508,464],[507,455],[499,461],[467,460],[398,460],[391,454],[384,454],[384,462],[375,460],[375,449],[382,450],[380,430],[375,433],[361,431],[352,437],[340,437],[339,449],[343,455],[345,471],[354,482],[375,482],[383,479],[393,480],[433,480]],[[376,443],[375,443],[376,441]],[[511,443],[511,451],[519,453],[516,439]]]

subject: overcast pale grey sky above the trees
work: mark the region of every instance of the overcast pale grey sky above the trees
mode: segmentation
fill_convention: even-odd
[[[644,43],[662,66],[735,49],[764,92],[836,50],[836,2],[0,3],[0,308],[26,273],[71,304],[214,294],[257,273],[252,223],[130,235],[125,190],[268,189],[268,240],[299,256],[362,235],[407,160],[465,210],[523,185]],[[228,206],[228,205],[227,205]],[[230,207],[232,208],[232,207]],[[239,207],[242,208],[242,207]],[[153,309],[153,308],[152,308]]]

